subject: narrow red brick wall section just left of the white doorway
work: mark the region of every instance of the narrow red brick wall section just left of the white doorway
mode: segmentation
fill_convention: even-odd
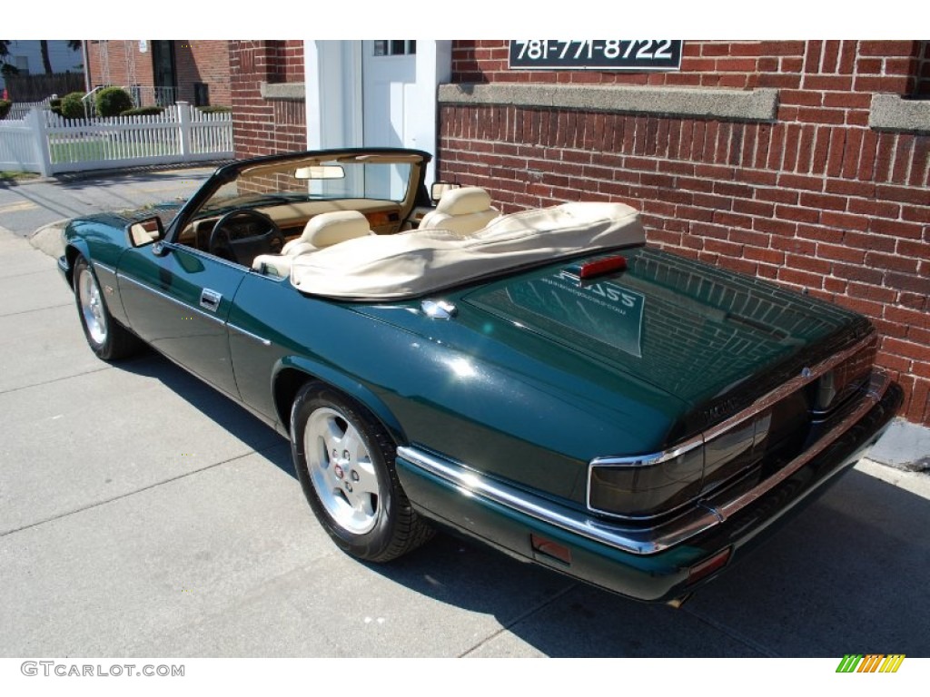
[[[304,100],[263,99],[262,83],[302,83],[302,41],[231,41],[230,85],[237,158],[307,149]]]

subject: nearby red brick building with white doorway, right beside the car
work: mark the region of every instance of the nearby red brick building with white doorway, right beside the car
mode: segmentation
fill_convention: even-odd
[[[366,42],[375,55],[379,44],[391,53],[412,43]],[[903,415],[930,425],[930,42],[685,41],[679,67],[617,72],[518,70],[507,41],[421,41],[416,74],[396,78],[405,89],[373,94],[405,95],[392,111],[425,113],[436,127],[431,138],[398,125],[396,142],[369,135],[363,119],[334,125],[314,106],[379,107],[355,103],[366,87],[352,88],[372,72],[353,67],[371,46],[304,42],[298,87],[297,43],[279,44],[293,53],[282,59],[279,46],[272,60],[262,49],[253,68],[233,68],[243,112],[264,114],[248,116],[237,155],[299,144],[297,124],[277,125],[267,98],[305,85],[313,147],[433,151],[435,178],[485,187],[507,212],[635,205],[649,243],[869,316],[879,362],[906,390]],[[359,46],[335,58],[325,46],[335,44]],[[350,77],[335,80],[337,68]],[[243,118],[234,113],[236,128]]]

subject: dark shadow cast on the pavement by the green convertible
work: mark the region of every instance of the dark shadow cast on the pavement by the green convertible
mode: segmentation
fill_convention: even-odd
[[[286,441],[229,398],[154,352],[118,365],[158,379],[296,479]],[[852,470],[678,610],[447,533],[402,559],[365,566],[425,597],[495,617],[501,631],[463,655],[930,656],[925,530],[930,500]]]

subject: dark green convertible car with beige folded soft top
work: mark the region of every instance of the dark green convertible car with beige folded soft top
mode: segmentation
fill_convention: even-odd
[[[59,264],[90,348],[148,344],[288,437],[359,559],[439,527],[672,604],[896,414],[863,317],[651,247],[625,204],[428,192],[429,161],[270,156],[167,224],[73,220]]]

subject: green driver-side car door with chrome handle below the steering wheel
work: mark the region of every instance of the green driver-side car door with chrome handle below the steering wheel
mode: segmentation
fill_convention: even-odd
[[[126,250],[117,283],[134,332],[238,399],[226,321],[246,273],[191,247],[161,243]]]

